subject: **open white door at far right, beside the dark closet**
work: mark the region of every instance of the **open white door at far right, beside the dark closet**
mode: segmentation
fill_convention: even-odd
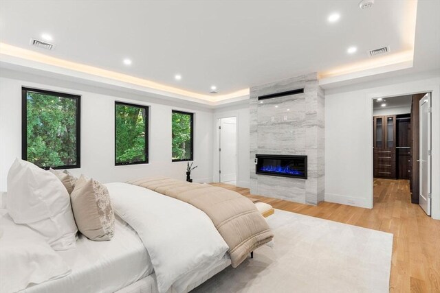
[[[419,102],[419,204],[427,215],[431,215],[431,94],[427,93]]]

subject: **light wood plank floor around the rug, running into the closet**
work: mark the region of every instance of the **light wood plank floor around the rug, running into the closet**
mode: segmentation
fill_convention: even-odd
[[[253,195],[247,188],[212,185],[259,198],[275,209],[393,233],[390,292],[440,292],[440,221],[411,204],[408,180],[375,179],[373,209],[331,202],[314,207]]]

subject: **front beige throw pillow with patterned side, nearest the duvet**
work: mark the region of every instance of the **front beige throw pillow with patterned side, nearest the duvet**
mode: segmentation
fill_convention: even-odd
[[[78,230],[94,241],[110,240],[115,229],[115,215],[107,187],[81,175],[70,195]]]

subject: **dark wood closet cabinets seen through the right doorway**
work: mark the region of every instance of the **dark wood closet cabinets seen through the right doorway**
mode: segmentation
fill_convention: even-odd
[[[373,117],[373,175],[410,178],[410,115]]]

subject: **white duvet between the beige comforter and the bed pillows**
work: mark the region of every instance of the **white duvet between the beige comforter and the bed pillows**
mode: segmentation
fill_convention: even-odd
[[[228,251],[208,215],[192,205],[126,183],[106,186],[115,213],[135,229],[148,250],[159,292],[182,285],[179,279],[191,279]]]

